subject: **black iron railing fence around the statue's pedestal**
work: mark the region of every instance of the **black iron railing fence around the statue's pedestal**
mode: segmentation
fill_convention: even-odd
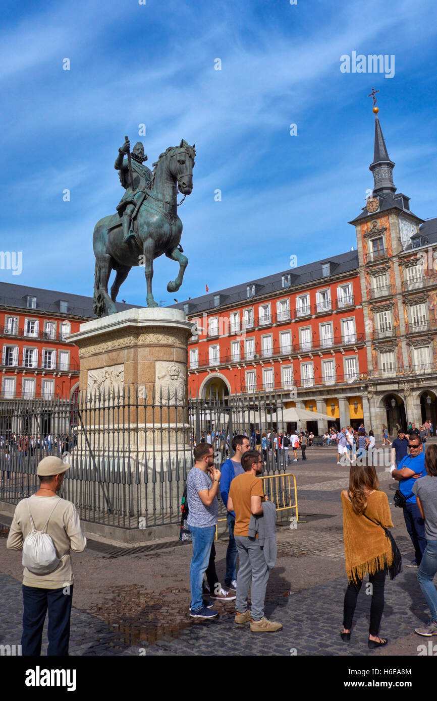
[[[34,494],[39,461],[54,455],[71,465],[62,496],[81,519],[126,529],[177,524],[199,442],[213,445],[220,466],[233,454],[232,437],[246,434],[262,453],[264,474],[285,472],[288,450],[274,446],[275,430],[283,427],[272,420],[275,411],[282,416],[273,393],[206,402],[170,391],[167,398],[147,396],[142,386],[72,400],[1,400],[0,503]]]

